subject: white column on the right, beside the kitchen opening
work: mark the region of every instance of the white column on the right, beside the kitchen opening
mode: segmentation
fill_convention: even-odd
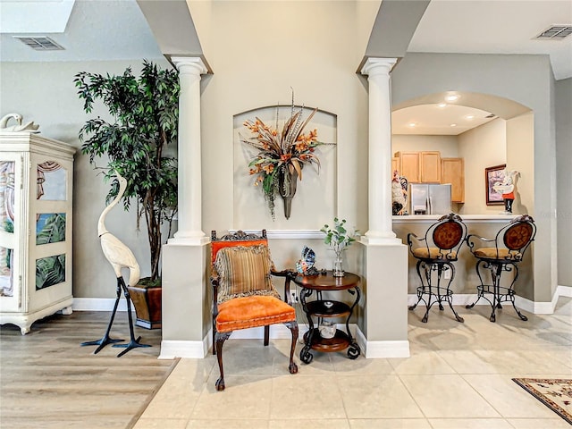
[[[396,58],[368,58],[361,69],[369,82],[369,231],[366,244],[401,243],[391,224],[391,86]]]

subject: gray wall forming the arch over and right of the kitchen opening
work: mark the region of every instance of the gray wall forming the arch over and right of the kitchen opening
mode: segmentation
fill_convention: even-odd
[[[535,301],[556,290],[556,169],[553,86],[547,55],[408,54],[392,71],[393,104],[448,90],[505,97],[534,112]]]

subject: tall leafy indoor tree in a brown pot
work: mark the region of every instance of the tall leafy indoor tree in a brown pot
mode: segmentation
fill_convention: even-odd
[[[111,182],[107,202],[119,190],[114,172],[127,179],[122,203],[129,210],[136,203],[138,227],[141,216],[147,223],[151,255],[151,275],[139,285],[130,285],[130,296],[137,312],[139,326],[161,326],[161,273],[159,263],[166,222],[171,233],[177,210],[177,161],[165,153],[176,146],[179,120],[179,77],[176,71],[161,70],[145,60],[139,77],[130,67],[122,75],[101,75],[81,71],[74,77],[83,109],[91,114],[100,101],[114,118],[106,122],[97,117],[88,120],[80,130],[81,152],[95,164],[103,158],[105,181]],[[172,151],[174,152],[174,151]],[[158,305],[158,309],[153,306]],[[146,306],[149,308],[146,308]],[[157,319],[158,317],[158,319]]]

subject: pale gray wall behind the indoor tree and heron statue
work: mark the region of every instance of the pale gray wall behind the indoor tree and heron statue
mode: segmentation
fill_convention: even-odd
[[[163,58],[162,67],[171,67]],[[84,114],[83,105],[73,85],[79,71],[121,74],[131,66],[138,73],[141,61],[2,63],[0,66],[0,115],[20,113],[24,121],[40,124],[41,135],[78,148],[74,162],[73,187],[73,296],[76,298],[114,298],[114,271],[105,260],[97,238],[97,219],[105,207],[109,186],[80,153],[78,132],[90,118],[109,119],[99,105],[93,114]],[[105,165],[98,161],[97,165]],[[135,209],[124,212],[116,206],[108,214],[106,226],[134,253],[141,274],[150,274],[149,249],[145,219],[137,230]],[[176,230],[175,230],[176,231]],[[166,240],[166,239],[165,239]]]

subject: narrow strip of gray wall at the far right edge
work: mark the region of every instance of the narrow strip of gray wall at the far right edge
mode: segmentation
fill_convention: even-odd
[[[558,284],[572,286],[572,78],[558,80],[555,89]]]

